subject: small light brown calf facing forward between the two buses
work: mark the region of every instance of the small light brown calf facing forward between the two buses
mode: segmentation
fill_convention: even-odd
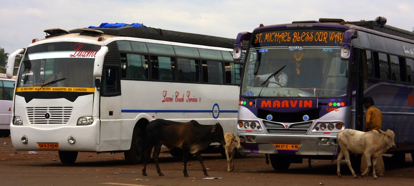
[[[234,136],[233,133],[227,132],[224,135],[224,139],[226,141],[226,145],[224,146],[224,149],[226,150],[226,157],[227,157],[227,171],[231,172],[234,170],[234,152],[237,149],[241,149],[242,146],[240,146],[240,138],[237,136]]]

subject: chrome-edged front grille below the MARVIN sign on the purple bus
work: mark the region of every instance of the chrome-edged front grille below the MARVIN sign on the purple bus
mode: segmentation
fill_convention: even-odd
[[[263,120],[267,133],[271,134],[306,134],[312,125],[312,121],[290,124],[288,129],[282,123]]]

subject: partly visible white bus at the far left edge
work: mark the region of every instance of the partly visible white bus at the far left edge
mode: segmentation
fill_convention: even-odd
[[[7,137],[10,134],[15,82],[16,76],[9,79],[6,74],[0,74],[0,137]]]

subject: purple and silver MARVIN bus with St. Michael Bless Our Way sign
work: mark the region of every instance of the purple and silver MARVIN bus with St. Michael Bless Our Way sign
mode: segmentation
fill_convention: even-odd
[[[339,131],[363,129],[361,101],[371,96],[382,130],[396,135],[387,153],[404,162],[414,150],[414,36],[385,20],[294,21],[239,33],[233,58],[246,51],[239,152],[270,154],[275,169],[332,159]]]

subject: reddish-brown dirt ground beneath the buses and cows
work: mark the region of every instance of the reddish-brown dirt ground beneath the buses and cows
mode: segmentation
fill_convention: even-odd
[[[166,149],[165,149],[166,150]],[[342,178],[336,174],[337,164],[330,160],[307,159],[302,164],[292,164],[288,170],[274,170],[265,164],[263,154],[248,154],[235,159],[235,170],[227,172],[226,159],[219,153],[202,154],[209,177],[204,176],[195,157],[188,162],[188,174],[183,176],[181,158],[174,158],[167,151],[160,154],[161,171],[158,176],[153,162],[147,165],[148,176],[142,176],[142,165],[126,165],[123,153],[79,152],[73,165],[60,162],[56,151],[17,151],[10,138],[0,138],[0,184],[3,186],[410,186],[413,185],[414,163],[411,155],[406,162],[396,166],[384,157],[386,173],[374,180],[372,174],[354,179],[344,162]],[[207,179],[206,179],[207,178]]]

